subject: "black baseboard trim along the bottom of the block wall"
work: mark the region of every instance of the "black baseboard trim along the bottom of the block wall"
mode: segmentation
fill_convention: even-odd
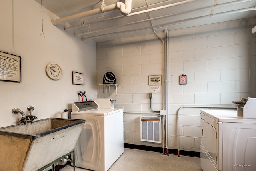
[[[136,144],[127,144],[127,143],[124,143],[124,148],[154,151],[154,152],[158,152],[158,153],[163,152],[163,149],[161,147],[151,147],[151,146],[146,146],[146,145],[136,145]],[[169,149],[169,154],[178,155],[178,150],[177,149]],[[191,157],[200,157],[200,152],[180,150],[180,155],[186,155],[186,156],[191,156]]]

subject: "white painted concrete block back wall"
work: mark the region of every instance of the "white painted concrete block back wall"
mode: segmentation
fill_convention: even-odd
[[[169,31],[169,148],[178,149],[177,112],[185,105],[231,105],[256,97],[256,18]],[[163,44],[154,34],[97,44],[97,83],[114,72],[118,91],[97,86],[98,97],[116,99],[124,108],[124,143],[161,147],[140,141],[140,116],[150,113],[148,76],[163,74]],[[179,76],[187,84],[179,85]],[[152,109],[162,109],[162,87],[153,92]],[[180,113],[180,149],[200,151],[200,108]]]

